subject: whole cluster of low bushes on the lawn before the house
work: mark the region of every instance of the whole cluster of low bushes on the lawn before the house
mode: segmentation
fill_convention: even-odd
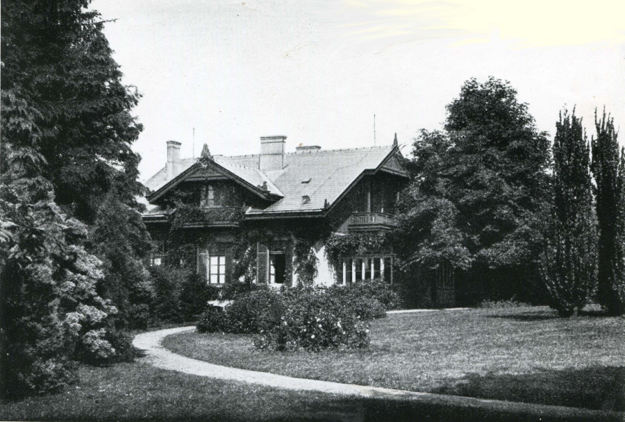
[[[197,329],[256,334],[257,348],[278,351],[363,348],[369,344],[369,321],[399,305],[397,294],[381,281],[281,292],[241,290],[232,288],[237,294],[225,308],[208,307]]]

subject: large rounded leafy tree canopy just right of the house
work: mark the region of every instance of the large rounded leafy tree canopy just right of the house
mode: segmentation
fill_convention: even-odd
[[[510,83],[492,77],[467,81],[447,112],[444,131],[424,130],[415,140],[399,232],[412,241],[400,240],[401,257],[537,268],[549,201],[547,133]]]

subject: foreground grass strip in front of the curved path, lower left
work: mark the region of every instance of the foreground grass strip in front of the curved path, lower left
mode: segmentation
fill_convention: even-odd
[[[0,402],[0,421],[363,420],[363,405],[330,394],[224,382],[128,363],[82,366],[62,393]]]

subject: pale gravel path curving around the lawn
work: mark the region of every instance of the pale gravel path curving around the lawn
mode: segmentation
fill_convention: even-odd
[[[422,403],[428,407],[453,407],[462,410],[474,410],[491,416],[496,414],[501,416],[517,416],[523,420],[526,418],[535,420],[540,419],[542,421],[625,420],[625,414],[622,412],[604,412],[579,409],[576,407],[533,405],[529,403],[485,400],[482,398],[461,396],[446,396],[443,394],[419,393],[416,391],[369,387],[365,385],[341,384],[339,382],[308,380],[304,378],[292,378],[274,373],[249,371],[247,369],[215,365],[201,360],[191,359],[190,357],[177,355],[162,346],[163,339],[168,335],[192,330],[195,330],[194,326],[144,332],[135,336],[133,346],[145,352],[145,356],[142,358],[144,362],[152,364],[158,368],[216,378],[219,380],[248,382],[268,387],[299,391],[321,391],[329,394],[358,396],[362,398],[408,400],[414,403]]]

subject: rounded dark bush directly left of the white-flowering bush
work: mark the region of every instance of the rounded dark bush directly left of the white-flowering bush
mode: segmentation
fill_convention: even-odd
[[[225,332],[255,334],[279,325],[286,309],[285,298],[272,290],[244,294],[226,306]]]

